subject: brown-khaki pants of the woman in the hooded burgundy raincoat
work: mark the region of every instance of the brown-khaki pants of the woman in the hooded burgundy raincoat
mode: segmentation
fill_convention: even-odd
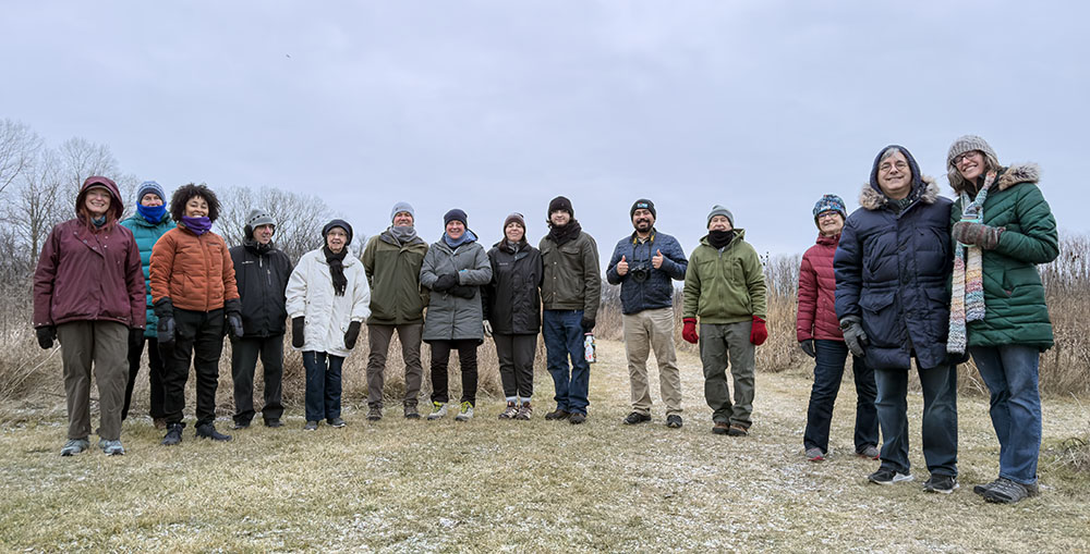
[[[121,439],[121,408],[129,382],[129,328],[113,321],[73,321],[57,327],[68,402],[69,439],[90,435],[90,371],[98,384],[100,427],[107,441]]]

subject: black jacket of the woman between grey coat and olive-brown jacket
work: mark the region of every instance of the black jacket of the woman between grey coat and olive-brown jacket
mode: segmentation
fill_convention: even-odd
[[[497,243],[488,250],[492,281],[485,293],[484,315],[494,333],[537,334],[542,328],[542,253],[522,243],[511,253]]]

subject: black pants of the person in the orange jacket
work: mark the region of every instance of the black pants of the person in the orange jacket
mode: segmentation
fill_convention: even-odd
[[[191,311],[174,308],[174,349],[164,352],[164,411],[167,423],[181,423],[190,357],[197,374],[197,426],[216,420],[219,355],[223,352],[223,309]]]

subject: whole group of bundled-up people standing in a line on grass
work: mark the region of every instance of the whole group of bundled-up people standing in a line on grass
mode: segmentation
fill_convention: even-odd
[[[802,258],[797,337],[815,359],[803,436],[806,456],[828,456],[833,404],[849,354],[857,390],[856,453],[881,459],[870,481],[911,480],[907,386],[915,358],[923,387],[924,489],[948,493],[957,483],[956,365],[971,354],[991,391],[1001,444],[1000,476],[974,491],[993,502],[1037,494],[1041,440],[1038,354],[1052,329],[1036,264],[1058,255],[1056,225],[1036,186],[1036,165],[1002,167],[982,138],[957,139],[947,158],[955,201],[920,173],[904,147],[884,148],[848,216],[844,201],[822,197],[813,209],[818,244]],[[306,370],[305,430],[343,427],[341,369],[367,325],[367,419],[384,414],[387,354],[395,332],[404,361],[403,416],[419,419],[421,345],[431,347],[429,420],[450,411],[465,421],[476,405],[476,349],[491,336],[499,359],[506,408],[500,419],[529,420],[537,335],[544,338],[555,408],[546,420],[586,421],[590,362],[584,338],[601,301],[597,245],[559,196],[547,210],[548,234],[537,247],[525,219],[511,213],[502,237],[479,244],[468,216],[452,209],[433,244],[417,236],[408,202],[390,210],[389,226],[350,254],[352,226],[339,219],[322,230],[322,246],[296,264],[275,247],[276,221],[250,212],[243,244],[228,248],[211,232],[219,201],[205,185],[184,185],[170,198],[155,182],[137,189],[135,213],[119,221],[117,185],[89,177],[75,200],[76,218],[46,241],[34,279],[34,325],[44,348],[61,343],[69,431],[62,455],[89,448],[92,367],[99,389],[99,447],[123,454],[121,421],[145,345],[150,416],[166,429],[162,444],[182,440],[184,387],[196,374],[196,436],[231,438],[215,428],[223,336],[232,344],[234,429],[256,416],[258,358],[264,369],[262,417],[281,427],[283,338]],[[659,370],[666,427],[682,427],[675,353],[674,281],[683,281],[683,340],[699,344],[704,397],[716,434],[743,436],[752,426],[754,353],[768,336],[764,273],[734,214],[714,206],[707,234],[687,259],[681,245],[655,226],[652,200],[629,212],[631,235],[614,247],[606,280],[620,285],[631,390],[625,424],[652,420],[647,359]],[[448,392],[451,350],[462,393]],[[128,364],[125,360],[128,358]],[[728,383],[729,368],[731,383]],[[731,394],[732,393],[732,394]],[[884,441],[879,450],[879,430]]]

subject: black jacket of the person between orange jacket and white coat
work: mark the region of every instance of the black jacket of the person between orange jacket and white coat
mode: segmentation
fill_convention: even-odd
[[[282,335],[288,309],[284,307],[291,259],[272,243],[262,246],[253,239],[231,247],[234,279],[242,298],[242,335]]]

